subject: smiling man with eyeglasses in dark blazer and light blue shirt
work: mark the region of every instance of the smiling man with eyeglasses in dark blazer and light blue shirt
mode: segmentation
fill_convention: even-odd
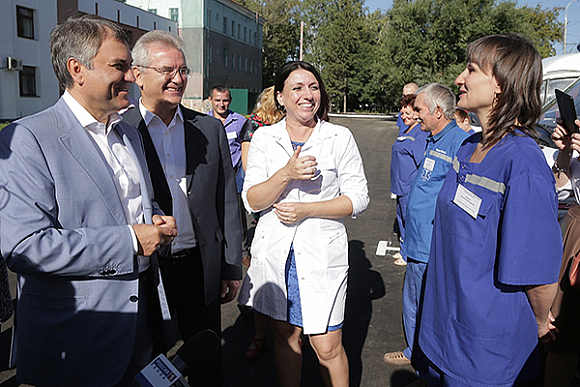
[[[221,331],[220,305],[234,299],[242,277],[240,215],[223,126],[180,105],[190,70],[183,40],[166,31],[141,36],[133,74],[137,109],[123,118],[143,136],[155,198],[177,220],[170,256],[160,259],[169,306],[183,340]],[[222,386],[221,359],[191,386]]]

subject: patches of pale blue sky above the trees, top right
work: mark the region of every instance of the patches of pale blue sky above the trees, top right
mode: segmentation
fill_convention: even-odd
[[[534,0],[516,0],[519,5],[528,5],[530,7],[536,7],[540,4],[542,8],[553,8],[562,7],[565,8],[570,0],[545,0],[545,1],[534,1]],[[381,9],[386,11],[392,5],[392,0],[365,0],[365,5],[370,9],[371,12],[376,9]],[[564,23],[564,12],[560,12],[560,17],[558,18],[562,23]],[[576,51],[576,45],[580,43],[580,1],[575,1],[568,7],[568,52],[573,50]],[[572,44],[574,43],[574,44]],[[562,44],[556,45],[556,54],[560,55],[563,53]]]

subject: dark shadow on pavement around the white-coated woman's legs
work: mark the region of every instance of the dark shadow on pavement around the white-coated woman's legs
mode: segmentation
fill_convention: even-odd
[[[350,365],[350,385],[359,387],[363,371],[362,349],[367,337],[372,316],[372,301],[385,295],[385,285],[381,275],[371,270],[366,258],[364,243],[349,243],[349,279],[346,312],[343,328],[343,344]],[[229,387],[276,386],[274,363],[274,340],[270,327],[260,357],[254,362],[244,358],[244,353],[254,336],[254,316],[250,309],[240,308],[233,325],[222,332],[222,355],[224,360],[224,385]],[[308,338],[303,338],[302,387],[323,386],[318,359]],[[401,378],[398,378],[401,379]],[[398,380],[397,379],[397,380]],[[414,375],[407,372],[403,381],[413,381]],[[408,383],[393,385],[404,386]]]

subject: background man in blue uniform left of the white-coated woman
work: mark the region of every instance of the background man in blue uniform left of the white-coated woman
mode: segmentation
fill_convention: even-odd
[[[226,129],[228,137],[228,144],[230,146],[230,156],[232,158],[232,166],[234,167],[234,176],[236,176],[236,185],[238,188],[238,204],[240,207],[240,218],[242,219],[242,258],[250,256],[250,249],[248,246],[247,237],[247,223],[246,213],[240,193],[244,184],[242,169],[242,128],[246,122],[246,118],[239,113],[230,110],[232,103],[232,93],[230,89],[222,85],[214,86],[209,94],[209,100],[212,105],[212,110],[208,115],[217,118],[222,122]],[[240,175],[241,174],[241,175]]]

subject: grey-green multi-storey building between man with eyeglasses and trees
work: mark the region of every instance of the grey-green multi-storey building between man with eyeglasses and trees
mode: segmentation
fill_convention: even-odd
[[[127,0],[179,23],[192,69],[183,103],[200,110],[218,84],[249,93],[262,90],[264,19],[231,0]]]

